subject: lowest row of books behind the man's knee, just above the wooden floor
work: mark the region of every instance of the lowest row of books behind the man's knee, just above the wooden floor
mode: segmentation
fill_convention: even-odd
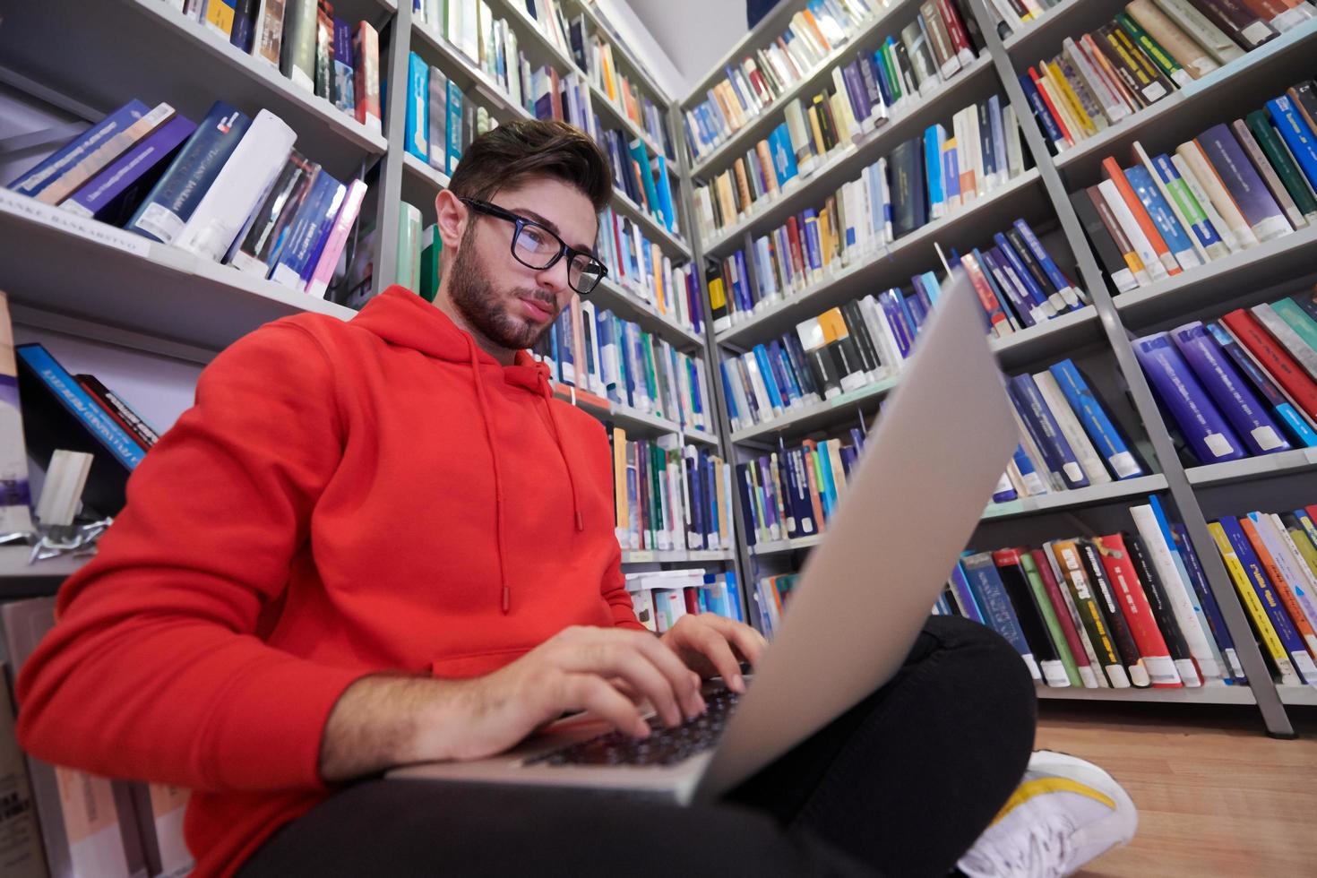
[[[1208,524],[1281,684],[1317,686],[1313,511]],[[1130,516],[1135,533],[967,553],[936,611],[996,629],[1047,686],[1247,684],[1185,528],[1156,498]]]

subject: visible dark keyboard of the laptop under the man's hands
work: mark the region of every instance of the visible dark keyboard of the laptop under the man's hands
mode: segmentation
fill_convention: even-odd
[[[736,700],[736,692],[719,690],[705,695],[709,710],[702,716],[674,728],[652,716],[647,738],[608,732],[527,760],[524,765],[676,765],[718,744]]]

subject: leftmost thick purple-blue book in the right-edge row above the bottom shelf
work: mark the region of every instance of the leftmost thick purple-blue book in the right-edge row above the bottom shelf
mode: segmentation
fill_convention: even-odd
[[[1217,411],[1168,333],[1137,338],[1134,355],[1202,463],[1247,457],[1230,424]]]

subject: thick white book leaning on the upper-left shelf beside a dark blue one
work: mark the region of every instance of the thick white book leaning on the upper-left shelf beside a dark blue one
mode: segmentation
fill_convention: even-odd
[[[270,111],[257,113],[174,245],[219,262],[274,184],[296,138]]]

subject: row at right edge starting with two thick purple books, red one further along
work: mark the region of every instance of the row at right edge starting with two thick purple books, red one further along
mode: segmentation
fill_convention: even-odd
[[[1134,341],[1187,462],[1317,446],[1314,315],[1301,294]]]

